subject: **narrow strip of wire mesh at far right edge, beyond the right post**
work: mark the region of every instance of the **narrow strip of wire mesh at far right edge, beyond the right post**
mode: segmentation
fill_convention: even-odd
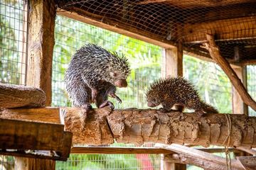
[[[247,91],[256,101],[256,65],[247,66]],[[249,115],[256,116],[256,111],[249,107]]]

